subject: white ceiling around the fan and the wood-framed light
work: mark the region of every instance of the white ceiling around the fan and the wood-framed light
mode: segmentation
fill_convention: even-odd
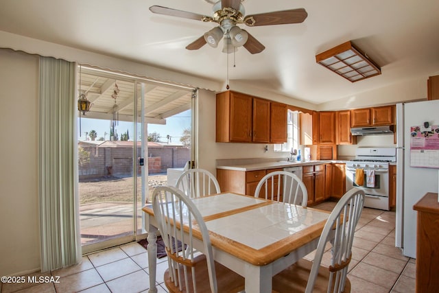
[[[313,104],[439,71],[438,0],[246,0],[246,15],[305,8],[300,24],[245,28],[260,54],[230,54],[230,84],[269,89]],[[205,0],[2,0],[0,30],[156,67],[226,80],[227,55],[185,47],[214,23],[152,14],[151,5],[211,16]],[[382,74],[351,83],[316,64],[322,51],[352,40]]]

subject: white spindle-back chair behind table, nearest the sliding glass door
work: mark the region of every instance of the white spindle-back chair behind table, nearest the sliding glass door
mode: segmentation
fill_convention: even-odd
[[[178,177],[176,187],[189,198],[199,198],[209,194],[219,194],[217,178],[206,169],[188,169]]]

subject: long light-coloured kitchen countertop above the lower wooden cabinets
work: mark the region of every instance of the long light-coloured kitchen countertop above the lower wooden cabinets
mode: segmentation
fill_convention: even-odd
[[[261,169],[275,169],[306,165],[318,165],[324,163],[346,163],[346,161],[338,160],[318,160],[318,161],[278,161],[278,162],[259,162],[259,163],[244,163],[239,165],[217,165],[217,169],[228,169],[235,171],[255,171]]]

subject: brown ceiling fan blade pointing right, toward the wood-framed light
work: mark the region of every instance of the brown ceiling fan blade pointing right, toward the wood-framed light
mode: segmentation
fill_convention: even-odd
[[[248,15],[244,23],[249,26],[261,25],[285,25],[288,23],[302,23],[307,18],[308,13],[304,8],[267,12],[261,14]],[[254,20],[254,24],[252,24]]]

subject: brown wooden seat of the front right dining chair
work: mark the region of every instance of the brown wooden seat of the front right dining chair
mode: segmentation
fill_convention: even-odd
[[[300,259],[294,265],[289,266],[282,272],[273,277],[273,292],[291,293],[291,292],[305,292],[307,288],[309,272],[313,263],[307,259]],[[320,266],[318,276],[313,288],[313,292],[328,291],[329,270],[324,266]],[[351,282],[346,277],[346,285],[344,286],[344,293],[351,292]]]

